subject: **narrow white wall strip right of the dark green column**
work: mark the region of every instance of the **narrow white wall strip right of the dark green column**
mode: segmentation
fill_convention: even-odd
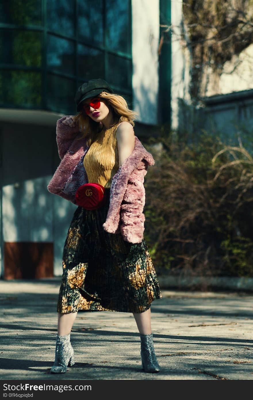
[[[171,127],[177,129],[178,99],[190,100],[189,71],[190,54],[181,41],[183,11],[181,0],[171,0]]]

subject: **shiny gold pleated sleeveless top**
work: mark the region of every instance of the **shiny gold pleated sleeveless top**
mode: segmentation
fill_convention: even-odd
[[[115,125],[103,129],[90,145],[84,157],[84,168],[89,183],[99,183],[105,188],[111,187],[112,178],[119,169],[117,127],[118,125]]]

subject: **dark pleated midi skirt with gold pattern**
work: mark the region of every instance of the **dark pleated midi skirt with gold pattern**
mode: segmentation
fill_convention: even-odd
[[[149,309],[161,292],[145,239],[129,243],[104,230],[110,196],[101,208],[78,207],[63,250],[63,274],[57,311]]]

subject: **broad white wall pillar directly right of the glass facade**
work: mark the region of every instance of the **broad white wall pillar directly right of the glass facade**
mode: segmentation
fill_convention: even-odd
[[[157,124],[159,0],[132,0],[133,104],[137,121]]]

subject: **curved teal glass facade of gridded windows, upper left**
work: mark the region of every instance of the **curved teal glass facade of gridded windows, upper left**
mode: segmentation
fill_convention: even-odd
[[[0,107],[74,113],[104,78],[131,105],[131,0],[2,0]]]

